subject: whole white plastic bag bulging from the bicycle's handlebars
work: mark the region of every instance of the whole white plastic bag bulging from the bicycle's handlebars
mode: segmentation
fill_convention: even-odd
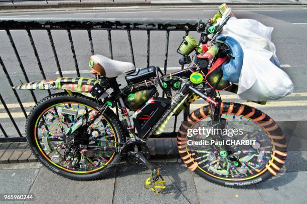
[[[273,28],[257,20],[231,18],[223,35],[236,39],[244,52],[238,97],[246,100],[276,100],[293,91],[289,76],[270,59],[277,58],[271,42]]]

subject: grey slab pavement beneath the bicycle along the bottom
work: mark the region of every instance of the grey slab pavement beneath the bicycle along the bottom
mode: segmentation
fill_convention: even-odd
[[[302,153],[302,152],[301,152]],[[294,154],[290,151],[289,156]],[[294,154],[295,155],[295,154]],[[299,162],[306,162],[297,157]],[[159,160],[158,160],[159,161]],[[180,161],[179,161],[180,162]],[[1,164],[1,193],[32,193],[24,203],[305,203],[307,168],[292,168],[288,160],[281,172],[246,189],[213,184],[190,171],[177,159],[155,162],[162,167],[167,189],[161,194],[143,189],[149,171],[143,166],[123,164],[105,178],[75,181],[58,176],[39,163]],[[4,202],[1,203],[12,203]],[[16,201],[15,203],[22,203]]]

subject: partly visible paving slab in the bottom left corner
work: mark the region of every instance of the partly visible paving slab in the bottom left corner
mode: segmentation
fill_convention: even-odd
[[[39,169],[1,170],[0,193],[28,193]],[[22,203],[22,201],[0,201],[1,203]],[[32,201],[33,203],[33,201]]]

